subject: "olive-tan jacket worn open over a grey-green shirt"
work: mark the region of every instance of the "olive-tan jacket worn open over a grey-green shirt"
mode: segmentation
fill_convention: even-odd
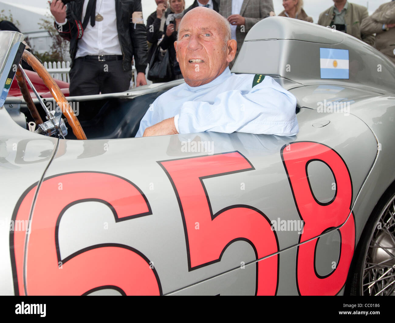
[[[318,19],[318,24],[321,26],[329,26],[333,19],[333,9],[334,6],[325,10],[320,14]],[[346,32],[358,39],[361,39],[369,45],[374,45],[374,35],[361,33],[361,22],[363,19],[369,16],[366,7],[359,6],[358,4],[348,3],[348,9],[344,20],[346,21]]]

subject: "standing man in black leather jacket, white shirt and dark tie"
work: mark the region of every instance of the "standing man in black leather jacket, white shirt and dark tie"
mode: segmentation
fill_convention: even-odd
[[[67,7],[67,9],[66,9]],[[147,34],[141,0],[76,0],[50,3],[55,27],[70,41],[70,95],[126,91],[132,78],[147,84]]]

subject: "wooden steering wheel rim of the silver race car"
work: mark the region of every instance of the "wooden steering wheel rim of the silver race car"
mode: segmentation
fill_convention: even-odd
[[[66,100],[66,97],[64,97],[63,93],[60,91],[58,84],[55,83],[45,67],[32,53],[28,52],[27,50],[24,50],[22,58],[34,69],[38,76],[41,77],[45,86],[47,86],[48,90],[51,92],[56,103],[62,109],[62,113],[66,117],[67,122],[70,125],[71,130],[73,131],[73,134],[77,137],[77,139],[87,139],[87,136],[85,136],[81,124],[79,123],[77,116],[75,116],[73,110],[71,109],[68,101]],[[34,105],[33,103],[32,97],[30,96],[29,90],[26,85],[26,80],[24,79],[22,71],[19,67],[15,75],[19,88],[21,89],[23,99],[26,102],[34,121],[38,125],[43,123],[43,120],[41,119],[40,114],[37,111],[36,105]]]

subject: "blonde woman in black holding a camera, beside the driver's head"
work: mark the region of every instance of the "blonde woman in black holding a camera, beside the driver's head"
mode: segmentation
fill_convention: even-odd
[[[175,57],[174,42],[177,40],[177,30],[181,18],[184,16],[185,1],[184,0],[169,0],[167,7],[171,9],[171,13],[167,15],[164,26],[165,35],[160,43],[163,50],[168,49],[170,60],[173,67],[175,78],[182,78],[180,66]]]

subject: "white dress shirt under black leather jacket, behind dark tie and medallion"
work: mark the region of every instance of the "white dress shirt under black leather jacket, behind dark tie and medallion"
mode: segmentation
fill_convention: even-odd
[[[81,23],[84,21],[87,12],[88,0],[84,1],[82,9]],[[117,15],[115,13],[114,0],[96,0],[95,16],[100,13],[102,21],[95,21],[95,25],[90,25],[88,21],[83,37],[78,41],[78,49],[75,58],[86,55],[122,55],[121,46],[118,39]],[[64,23],[66,24],[67,19]]]

